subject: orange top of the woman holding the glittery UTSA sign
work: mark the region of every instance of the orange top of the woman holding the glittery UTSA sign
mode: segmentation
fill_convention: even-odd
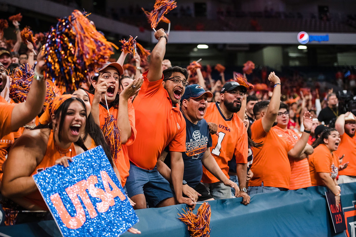
[[[59,149],[61,150],[62,154],[58,151]],[[65,155],[63,153],[65,153]],[[75,152],[73,143],[70,145],[68,149],[57,148],[56,145],[54,144],[53,131],[51,130],[47,143],[46,154],[43,157],[41,163],[37,165],[36,169],[33,171],[31,176],[40,173],[46,168],[52,167],[55,164],[56,160],[62,158],[63,156],[74,157],[76,155],[77,153]],[[24,196],[23,199],[35,204],[36,206],[41,207],[44,210],[48,209],[46,202],[43,200],[43,197],[40,191],[38,190],[28,194],[27,196]]]

